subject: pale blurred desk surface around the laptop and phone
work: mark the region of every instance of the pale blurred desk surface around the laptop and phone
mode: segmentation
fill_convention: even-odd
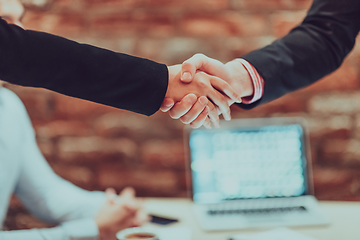
[[[204,232],[191,212],[191,200],[148,198],[145,208],[149,213],[177,218],[180,221],[171,226],[188,226],[193,240],[224,240],[238,233],[256,233],[269,229]],[[327,226],[292,227],[291,229],[312,236],[318,240],[359,240],[360,203],[321,201],[320,209],[330,220]]]

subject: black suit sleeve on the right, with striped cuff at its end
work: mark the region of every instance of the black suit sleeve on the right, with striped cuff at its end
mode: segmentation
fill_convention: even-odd
[[[336,70],[360,29],[359,0],[315,0],[288,35],[243,56],[265,80],[263,97],[250,109],[306,87]]]

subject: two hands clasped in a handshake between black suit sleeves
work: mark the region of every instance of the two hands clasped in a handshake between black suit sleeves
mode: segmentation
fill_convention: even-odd
[[[240,60],[226,64],[195,54],[168,67],[169,84],[160,110],[193,128],[220,127],[219,115],[231,120],[230,106],[254,94],[252,78]]]

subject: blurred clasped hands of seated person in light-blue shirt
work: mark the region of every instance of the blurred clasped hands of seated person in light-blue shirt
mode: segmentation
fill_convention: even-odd
[[[125,188],[119,195],[114,189],[106,190],[106,202],[95,217],[100,240],[116,240],[116,233],[129,227],[137,227],[149,220],[135,198],[133,188]]]

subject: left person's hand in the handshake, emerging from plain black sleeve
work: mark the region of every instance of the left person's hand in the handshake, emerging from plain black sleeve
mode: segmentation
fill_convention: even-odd
[[[231,119],[229,105],[233,102],[239,102],[240,97],[228,83],[216,76],[197,72],[194,74],[191,83],[184,84],[180,81],[180,70],[181,65],[169,67],[169,86],[165,96],[166,100],[161,107],[162,111],[169,110],[171,105],[174,105],[171,100],[179,102],[174,106],[176,111],[170,110],[170,116],[176,119],[186,114],[181,120],[186,124],[195,121],[192,124],[195,127],[201,122],[204,123],[206,121],[206,111],[209,112],[209,117],[215,126],[219,126],[219,113],[222,113],[226,120]],[[188,93],[194,95],[184,98]],[[199,98],[194,104],[195,98],[199,96],[205,96],[211,102],[205,98]],[[170,102],[168,103],[167,101],[169,100]],[[190,108],[183,108],[183,106],[190,104]],[[209,109],[206,108],[206,105]],[[202,121],[199,121],[199,117],[202,118]]]

